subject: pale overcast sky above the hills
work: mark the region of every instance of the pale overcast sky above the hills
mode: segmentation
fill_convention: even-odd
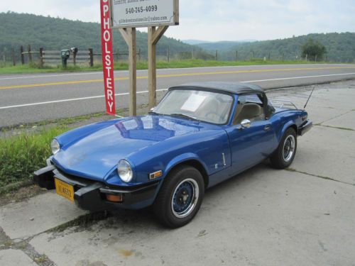
[[[99,22],[99,0],[0,1],[15,11]],[[355,0],[180,0],[180,40],[270,40],[307,33],[355,32]]]

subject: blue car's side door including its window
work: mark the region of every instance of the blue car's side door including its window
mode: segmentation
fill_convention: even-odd
[[[238,97],[231,127],[228,128],[231,146],[231,167],[238,173],[268,157],[275,147],[275,125],[266,118],[262,94]],[[249,128],[241,126],[248,119]]]

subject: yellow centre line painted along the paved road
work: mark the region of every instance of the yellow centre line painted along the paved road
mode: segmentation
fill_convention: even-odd
[[[327,66],[324,64],[312,64],[312,65],[236,65],[236,66],[221,66],[221,67],[186,67],[186,68],[163,68],[158,69],[158,72],[165,72],[171,70],[205,70],[207,68],[227,68],[227,67],[289,67],[289,66],[307,66],[307,67],[317,67],[317,66]],[[338,65],[338,64],[337,64]],[[337,66],[334,65],[334,66]],[[338,65],[339,66],[339,65]],[[341,65],[340,65],[341,66]],[[137,70],[137,72],[147,72],[148,70]],[[128,70],[116,70],[115,74],[119,73],[128,73]],[[102,75],[102,71],[95,71],[95,72],[80,72],[80,73],[68,73],[68,74],[43,74],[38,76],[21,76],[21,77],[2,77],[0,80],[10,80],[10,79],[35,79],[40,77],[70,77],[70,76],[80,76],[80,75],[87,75],[87,74],[99,74]]]

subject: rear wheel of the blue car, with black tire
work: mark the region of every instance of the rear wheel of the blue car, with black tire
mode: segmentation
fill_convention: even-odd
[[[297,134],[295,129],[288,128],[281,138],[278,148],[271,155],[271,165],[277,169],[289,167],[297,151]]]

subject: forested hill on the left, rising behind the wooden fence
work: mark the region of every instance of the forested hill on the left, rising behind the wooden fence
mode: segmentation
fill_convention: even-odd
[[[4,52],[4,48],[9,55],[11,48],[18,51],[20,45],[28,44],[32,45],[33,50],[77,47],[82,50],[93,48],[94,52],[99,52],[101,50],[100,25],[23,13],[0,13],[0,54]],[[146,57],[147,33],[137,31],[137,45],[143,57]],[[168,47],[172,56],[179,56],[193,49],[192,45],[163,36],[157,46],[157,55],[166,55]],[[120,33],[114,31],[114,49],[117,48],[122,52],[128,50]],[[199,48],[195,48],[195,51],[202,52]]]

